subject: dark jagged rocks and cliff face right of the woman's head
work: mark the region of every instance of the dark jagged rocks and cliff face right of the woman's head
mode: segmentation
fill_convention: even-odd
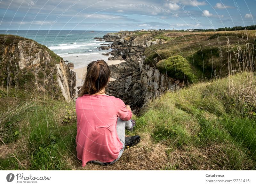
[[[135,108],[142,107],[150,98],[155,98],[165,90],[177,90],[177,82],[155,67],[144,63],[143,52],[148,46],[164,43],[162,39],[152,38],[152,34],[135,35],[133,33],[111,33],[103,37],[114,41],[111,45],[114,56],[109,60],[126,60],[126,62],[110,65],[112,78],[108,93],[120,97],[125,103]]]

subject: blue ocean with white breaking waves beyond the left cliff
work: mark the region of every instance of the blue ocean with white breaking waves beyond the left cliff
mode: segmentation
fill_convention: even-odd
[[[64,60],[73,62],[75,66],[91,61],[95,56],[110,51],[111,49],[108,51],[99,50],[97,47],[100,47],[103,43],[111,44],[112,42],[93,39],[94,37],[102,38],[103,35],[110,32],[116,31],[51,30],[47,32],[47,30],[9,30],[6,32],[6,30],[0,30],[0,34],[19,35],[46,45]],[[79,58],[76,59],[76,56]],[[106,58],[106,56],[102,57]]]

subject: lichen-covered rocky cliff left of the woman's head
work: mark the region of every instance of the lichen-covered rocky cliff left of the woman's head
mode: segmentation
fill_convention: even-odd
[[[0,35],[0,45],[1,88],[48,93],[67,101],[73,97],[76,74],[49,48],[14,35]]]

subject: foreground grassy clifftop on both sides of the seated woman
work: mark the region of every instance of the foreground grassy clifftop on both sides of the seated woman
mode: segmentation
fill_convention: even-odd
[[[239,73],[149,102],[113,165],[76,159],[75,102],[0,91],[1,170],[255,170],[256,74]]]

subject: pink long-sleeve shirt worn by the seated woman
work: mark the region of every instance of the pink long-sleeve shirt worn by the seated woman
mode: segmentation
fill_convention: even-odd
[[[76,152],[82,166],[91,160],[115,160],[123,148],[116,132],[117,118],[128,121],[132,117],[124,101],[104,94],[85,94],[76,99],[76,115]]]

